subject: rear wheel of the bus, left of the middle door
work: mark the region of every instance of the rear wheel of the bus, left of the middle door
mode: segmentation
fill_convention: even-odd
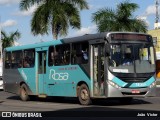
[[[28,89],[25,84],[22,84],[20,87],[20,98],[22,101],[29,101],[30,97],[28,95]]]

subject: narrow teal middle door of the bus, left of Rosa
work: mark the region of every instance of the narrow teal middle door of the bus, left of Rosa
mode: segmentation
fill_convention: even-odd
[[[46,51],[37,52],[38,58],[38,94],[45,95]]]

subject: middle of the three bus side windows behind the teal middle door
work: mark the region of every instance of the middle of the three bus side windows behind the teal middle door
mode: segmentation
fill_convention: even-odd
[[[22,67],[23,53],[22,51],[12,52],[12,69],[17,69]]]

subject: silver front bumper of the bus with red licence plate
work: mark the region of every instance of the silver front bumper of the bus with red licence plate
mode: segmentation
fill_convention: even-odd
[[[107,97],[154,97],[156,86],[152,88],[115,88],[108,86]]]

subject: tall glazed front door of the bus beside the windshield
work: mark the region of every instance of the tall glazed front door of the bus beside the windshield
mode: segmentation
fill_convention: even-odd
[[[104,44],[92,45],[92,53],[93,95],[104,96]]]

